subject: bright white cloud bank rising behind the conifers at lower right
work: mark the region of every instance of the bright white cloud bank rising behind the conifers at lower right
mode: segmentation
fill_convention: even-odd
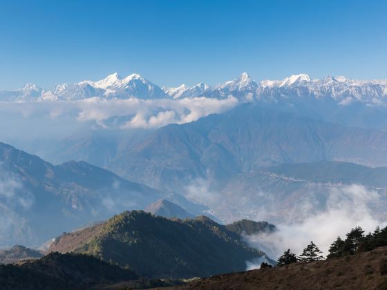
[[[328,254],[330,244],[337,236],[345,238],[346,233],[355,226],[361,226],[366,233],[376,226],[384,226],[385,221],[377,220],[368,206],[369,202],[379,199],[379,194],[369,191],[364,186],[351,185],[334,188],[330,191],[326,210],[312,215],[303,222],[279,224],[274,233],[250,235],[245,240],[273,259],[276,259],[286,249],[291,249],[297,255],[312,240]]]

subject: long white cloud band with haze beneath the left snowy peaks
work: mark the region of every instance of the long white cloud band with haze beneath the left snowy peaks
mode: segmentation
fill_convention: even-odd
[[[64,137],[84,130],[130,130],[184,124],[238,105],[238,99],[84,99],[0,102],[0,138]],[[12,127],[12,130],[9,128]]]

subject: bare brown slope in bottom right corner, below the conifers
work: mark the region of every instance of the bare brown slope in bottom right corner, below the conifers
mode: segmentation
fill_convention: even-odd
[[[386,257],[387,247],[381,247],[345,258],[214,276],[169,289],[387,289]]]

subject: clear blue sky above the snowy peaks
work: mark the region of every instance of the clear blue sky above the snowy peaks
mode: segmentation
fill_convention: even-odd
[[[387,1],[0,0],[0,89],[112,72],[160,86],[387,78]]]

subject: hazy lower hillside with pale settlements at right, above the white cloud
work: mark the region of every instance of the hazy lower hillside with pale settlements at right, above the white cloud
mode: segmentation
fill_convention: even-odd
[[[276,224],[302,222],[327,210],[328,199],[351,200],[368,206],[378,220],[386,220],[387,168],[370,168],[348,162],[320,161],[279,164],[234,175],[225,182],[218,203],[211,207],[223,220],[240,218],[270,220]],[[356,201],[358,188],[370,195]],[[332,204],[331,204],[332,206]]]

